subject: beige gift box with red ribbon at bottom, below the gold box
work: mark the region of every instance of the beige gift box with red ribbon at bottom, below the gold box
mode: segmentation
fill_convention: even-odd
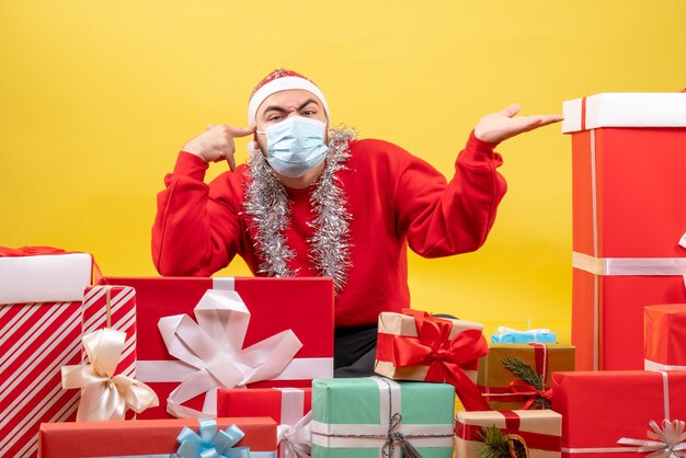
[[[475,426],[495,425],[503,434],[516,434],[526,443],[529,458],[560,456],[562,415],[551,410],[459,412],[455,451],[460,458],[480,458],[484,443]]]

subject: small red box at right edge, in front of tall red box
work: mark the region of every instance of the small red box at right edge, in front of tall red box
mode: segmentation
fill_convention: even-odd
[[[686,304],[644,309],[645,368],[686,370]]]

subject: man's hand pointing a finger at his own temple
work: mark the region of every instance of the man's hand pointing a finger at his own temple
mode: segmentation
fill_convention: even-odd
[[[226,124],[208,125],[207,130],[188,141],[183,150],[202,158],[205,162],[226,160],[229,169],[236,170],[235,138],[247,137],[255,131],[255,125],[250,127],[233,127]]]

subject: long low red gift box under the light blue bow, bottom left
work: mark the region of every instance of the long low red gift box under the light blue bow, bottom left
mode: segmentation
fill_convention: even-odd
[[[261,457],[276,457],[276,423],[267,417],[217,419],[225,430],[236,424],[245,436],[236,447],[250,447]],[[197,420],[136,420],[84,423],[44,423],[41,458],[176,456],[176,437],[184,427],[198,431]]]

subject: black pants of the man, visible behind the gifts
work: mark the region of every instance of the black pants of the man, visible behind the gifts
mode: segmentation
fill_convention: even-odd
[[[434,314],[434,317],[455,319],[449,314]],[[335,329],[333,341],[333,376],[335,378],[374,375],[377,332],[376,324]]]

